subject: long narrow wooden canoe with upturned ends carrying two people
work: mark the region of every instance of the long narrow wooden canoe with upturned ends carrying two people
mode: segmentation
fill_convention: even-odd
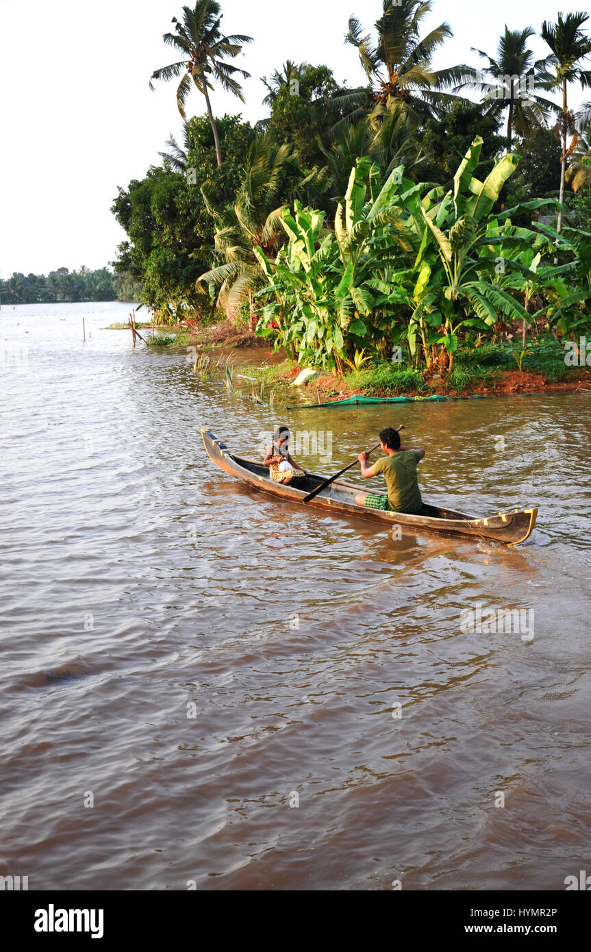
[[[421,512],[406,515],[403,512],[383,512],[380,509],[367,509],[357,506],[355,496],[358,492],[366,492],[367,486],[351,486],[349,483],[336,481],[327,486],[309,503],[303,504],[308,492],[324,483],[325,476],[316,476],[308,473],[305,480],[298,481],[293,486],[282,486],[269,479],[268,467],[262,463],[245,460],[230,453],[226,444],[218,440],[209,430],[202,428],[201,435],[207,450],[207,455],[230,476],[242,480],[246,486],[262,489],[271,496],[276,496],[289,503],[299,503],[317,509],[327,509],[329,512],[340,512],[344,515],[357,516],[372,523],[383,523],[385,526],[401,526],[402,531],[437,532],[443,535],[476,536],[480,539],[501,542],[504,545],[517,545],[524,542],[531,535],[536,525],[538,509],[516,509],[515,512],[500,512],[496,516],[478,519],[475,516],[466,516],[463,512],[454,512],[441,506],[429,506],[425,503]]]

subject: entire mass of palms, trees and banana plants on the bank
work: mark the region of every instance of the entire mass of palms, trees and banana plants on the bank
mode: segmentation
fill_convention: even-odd
[[[368,372],[394,352],[403,376],[450,380],[486,343],[590,327],[591,109],[567,109],[572,84],[591,87],[587,16],[543,24],[540,60],[532,28],[505,27],[494,56],[477,50],[481,73],[433,68],[452,32],[424,30],[431,8],[384,0],[372,31],[350,17],[367,85],[288,60],[264,79],[254,128],[214,119],[209,99],[214,82],[242,97],[226,59],[250,38],[222,33],[214,0],[183,8],[165,41],[184,58],[154,77],[180,78],[183,112],[196,86],[207,116],[113,206],[128,233],[115,268],[150,307],[246,308],[302,363]]]

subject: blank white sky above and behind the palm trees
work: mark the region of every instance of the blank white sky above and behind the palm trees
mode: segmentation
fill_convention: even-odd
[[[470,47],[494,55],[505,22],[539,30],[558,9],[585,6],[435,0],[425,29],[446,20],[454,30],[437,67],[480,66]],[[109,211],[117,186],[159,164],[168,134],[180,133],[174,82],[151,93],[148,81],[177,58],[162,34],[173,30],[170,21],[182,7],[182,0],[0,0],[0,276],[101,268],[113,260],[125,237]],[[286,59],[325,63],[350,86],[364,82],[357,52],[343,37],[351,13],[372,27],[381,0],[223,0],[222,8],[223,29],[255,42],[236,61],[252,75],[244,84],[246,107],[216,91],[216,114],[262,118],[259,77]],[[545,55],[540,38],[530,43]],[[588,90],[573,90],[575,107],[584,98],[591,98]],[[187,114],[202,114],[204,106],[195,90]]]

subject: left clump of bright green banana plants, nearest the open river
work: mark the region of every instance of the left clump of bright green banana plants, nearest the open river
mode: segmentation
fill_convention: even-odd
[[[407,307],[399,276],[406,263],[389,241],[387,227],[397,221],[402,227],[401,188],[414,192],[417,187],[404,180],[402,169],[394,169],[383,187],[380,182],[379,168],[358,159],[333,233],[323,228],[323,212],[296,201],[293,215],[283,212],[288,243],[275,262],[254,248],[270,281],[260,293],[276,295],[275,304],[264,309],[260,329],[266,333],[273,323],[281,327],[289,312],[280,339],[296,347],[301,362],[341,368],[359,347],[375,345],[387,333],[391,316],[384,313],[386,307]]]

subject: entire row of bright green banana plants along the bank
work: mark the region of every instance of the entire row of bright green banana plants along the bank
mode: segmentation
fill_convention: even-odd
[[[323,229],[323,213],[297,202],[295,217],[285,211],[289,240],[274,265],[255,248],[271,282],[259,295],[268,302],[262,332],[316,366],[341,370],[360,347],[383,356],[403,345],[415,366],[449,370],[458,347],[514,322],[536,327],[543,316],[562,333],[581,327],[591,236],[517,228],[519,206],[495,214],[518,159],[503,156],[481,182],[482,146],[474,141],[447,192],[415,185],[402,168],[379,188],[379,169],[358,159],[334,233]],[[542,307],[531,313],[534,298]]]

